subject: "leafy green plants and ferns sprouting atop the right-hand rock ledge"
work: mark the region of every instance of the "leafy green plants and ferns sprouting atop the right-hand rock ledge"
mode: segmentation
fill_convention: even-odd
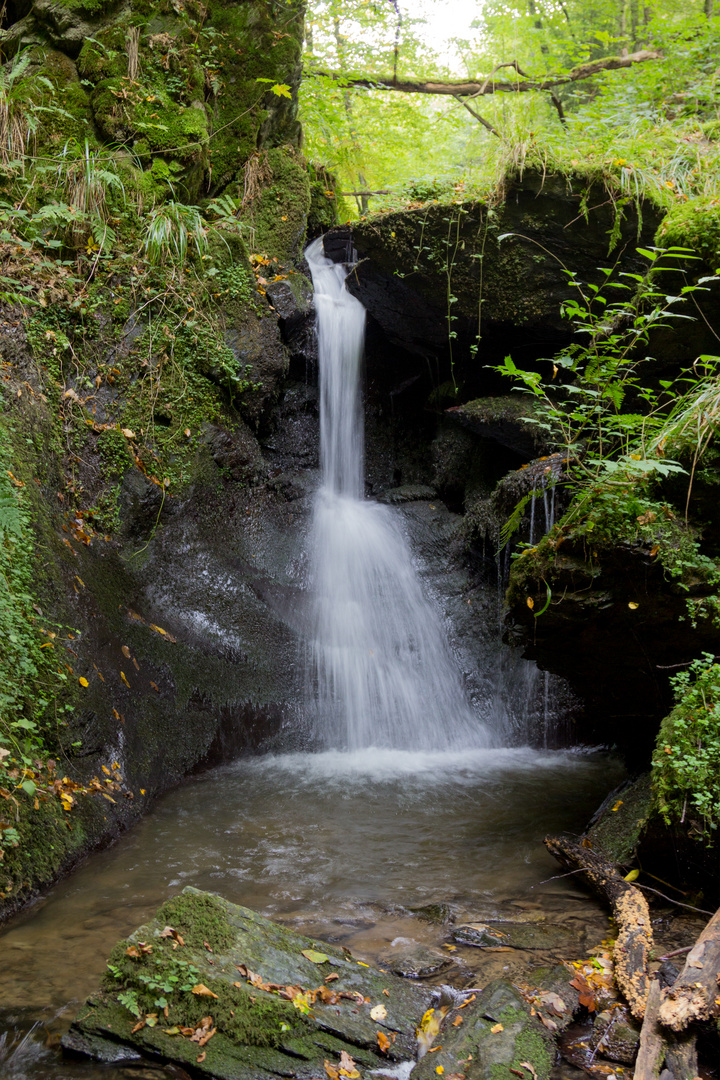
[[[643,384],[648,357],[642,350],[652,332],[670,320],[690,318],[676,309],[702,286],[683,285],[677,296],[667,295],[661,275],[688,253],[639,252],[650,260],[651,274],[616,278],[611,268],[601,268],[606,280],[594,285],[565,271],[578,291],[578,298],[562,306],[575,339],[547,362],[549,378],[518,368],[512,356],[495,367],[538,400],[539,415],[528,422],[545,430],[566,455],[578,490],[597,483],[627,487],[651,474],[683,472],[678,462],[663,457],[666,440],[660,435],[678,394],[669,382],[661,383],[660,393]]]

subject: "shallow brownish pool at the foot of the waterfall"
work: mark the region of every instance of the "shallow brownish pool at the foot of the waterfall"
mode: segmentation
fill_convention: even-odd
[[[542,838],[580,831],[622,777],[603,753],[531,750],[291,754],[208,772],[0,935],[0,1077],[145,1076],[65,1062],[52,1047],[118,939],[188,885],[368,961],[400,947],[440,955],[450,939],[429,921],[433,905],[457,922],[520,913],[574,919],[580,933],[589,919],[600,935],[600,908],[557,876]],[[443,980],[472,985],[478,951],[446,954]]]

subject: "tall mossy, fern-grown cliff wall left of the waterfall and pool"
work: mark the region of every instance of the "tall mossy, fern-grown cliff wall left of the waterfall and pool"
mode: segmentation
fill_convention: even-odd
[[[6,9],[5,914],[294,726],[291,477],[315,436],[260,438],[313,346],[311,198],[331,216],[298,150],[302,32],[295,0]]]

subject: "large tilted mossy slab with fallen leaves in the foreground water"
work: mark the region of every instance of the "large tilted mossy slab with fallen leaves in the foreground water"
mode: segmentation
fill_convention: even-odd
[[[325,983],[327,975],[337,977]],[[318,987],[325,1002],[312,994],[299,1008],[290,1000]],[[385,1009],[381,1020],[370,1015],[377,1004]],[[344,949],[188,888],[114,947],[104,989],[85,1003],[64,1044],[105,1059],[112,1048],[119,1058],[131,1048],[195,1071],[201,1048],[190,1036],[210,1017],[204,1076],[316,1077],[343,1050],[365,1072],[413,1055],[426,1004],[425,990]],[[378,1030],[394,1036],[384,1056]]]

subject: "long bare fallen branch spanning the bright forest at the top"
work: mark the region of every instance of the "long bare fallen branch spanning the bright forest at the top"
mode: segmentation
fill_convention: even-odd
[[[432,80],[432,79],[397,79],[392,76],[345,76],[341,71],[309,71],[308,77],[318,76],[325,79],[334,79],[339,86],[351,89],[353,86],[365,87],[366,90],[397,90],[403,94],[447,94],[452,97],[483,97],[486,94],[522,94],[533,90],[553,90],[554,86],[567,86],[572,82],[582,82],[584,79],[592,79],[600,71],[615,71],[619,68],[633,67],[634,64],[644,64],[647,60],[656,60],[662,53],[650,49],[641,49],[637,53],[629,53],[627,56],[606,56],[604,59],[588,60],[587,64],[579,64],[567,75],[549,76],[546,79],[522,78],[515,82],[495,82],[492,75],[483,80],[457,79],[457,80]],[[519,72],[517,62],[501,64],[500,67],[514,67]],[[464,103],[463,103],[464,104]]]

